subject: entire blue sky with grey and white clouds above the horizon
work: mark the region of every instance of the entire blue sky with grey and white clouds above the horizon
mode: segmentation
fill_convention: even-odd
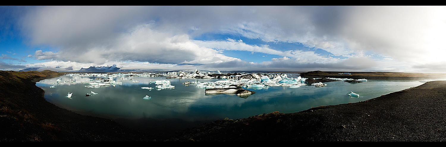
[[[0,6],[0,70],[446,73],[445,34],[444,6]]]

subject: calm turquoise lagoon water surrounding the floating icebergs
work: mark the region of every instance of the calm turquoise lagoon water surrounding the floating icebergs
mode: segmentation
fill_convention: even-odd
[[[45,99],[50,103],[84,115],[115,119],[155,118],[185,121],[207,121],[226,117],[238,119],[273,111],[292,113],[322,105],[356,103],[422,84],[417,80],[368,80],[363,83],[327,82],[326,87],[306,85],[298,88],[248,88],[256,93],[246,99],[236,95],[205,95],[205,89],[197,88],[194,84],[182,85],[186,81],[213,82],[220,79],[134,77],[133,80],[140,82],[133,83],[132,80],[116,78],[116,82],[123,84],[116,87],[88,88],[85,87],[88,84],[63,83],[54,84],[55,88],[50,88],[53,86],[51,83],[56,83],[58,78],[64,81],[74,77],[64,75],[42,80],[36,85],[45,90]],[[76,81],[90,82],[87,79],[97,81],[95,77],[80,77]],[[169,80],[175,88],[158,91],[155,84],[150,84],[150,81],[155,80]],[[154,87],[154,89],[149,91],[141,87]],[[98,95],[85,96],[91,91]],[[348,96],[347,93],[350,91],[360,96]],[[68,92],[73,93],[71,99],[66,97]],[[143,99],[145,95],[151,96],[151,99]]]

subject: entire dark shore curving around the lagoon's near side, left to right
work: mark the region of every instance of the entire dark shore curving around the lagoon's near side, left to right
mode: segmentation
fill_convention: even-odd
[[[0,71],[1,141],[444,141],[446,81],[359,103],[273,112],[179,130],[177,136],[134,131],[110,119],[79,115],[44,98],[32,80],[52,71]]]

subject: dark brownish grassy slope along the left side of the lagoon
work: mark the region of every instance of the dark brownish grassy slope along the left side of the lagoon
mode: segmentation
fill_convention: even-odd
[[[53,71],[0,71],[0,141],[153,141],[165,136],[133,131],[110,119],[79,115],[44,98],[32,81]]]

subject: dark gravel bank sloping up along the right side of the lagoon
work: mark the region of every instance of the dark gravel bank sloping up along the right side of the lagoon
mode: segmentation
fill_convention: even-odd
[[[445,141],[446,81],[358,103],[216,120],[170,141]]]

